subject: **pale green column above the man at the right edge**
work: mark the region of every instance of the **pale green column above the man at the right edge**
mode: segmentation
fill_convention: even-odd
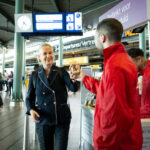
[[[146,38],[145,30],[139,34],[139,48],[144,51],[144,57],[146,58]]]

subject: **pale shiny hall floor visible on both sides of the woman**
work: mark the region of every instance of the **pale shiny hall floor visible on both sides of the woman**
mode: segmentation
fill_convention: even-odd
[[[0,93],[4,105],[0,107],[0,150],[23,150],[24,106],[9,105],[10,97]],[[68,150],[78,150],[80,144],[80,93],[69,94],[72,121],[70,126]],[[29,118],[29,144],[27,150],[39,150],[38,141],[33,139],[34,123]]]

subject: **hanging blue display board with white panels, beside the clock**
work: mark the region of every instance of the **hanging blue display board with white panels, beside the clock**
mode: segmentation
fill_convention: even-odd
[[[33,32],[82,33],[82,13],[34,13]]]

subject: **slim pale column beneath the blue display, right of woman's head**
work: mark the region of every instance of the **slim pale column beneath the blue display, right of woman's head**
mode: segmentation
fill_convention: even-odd
[[[63,41],[62,36],[59,37],[59,53],[58,53],[58,66],[63,66]]]

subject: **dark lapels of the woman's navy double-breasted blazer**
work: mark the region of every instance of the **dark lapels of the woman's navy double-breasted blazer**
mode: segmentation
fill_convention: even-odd
[[[56,70],[56,66],[55,65],[52,65],[51,69],[50,69],[50,74],[49,74],[49,77],[48,78],[51,78],[53,77],[53,73],[55,72]],[[43,66],[40,66],[39,70],[38,70],[38,76],[40,78],[40,80],[42,82],[44,82],[44,84],[50,88],[50,84],[48,82],[48,78],[46,77],[46,73],[45,73],[45,70],[43,68]]]

